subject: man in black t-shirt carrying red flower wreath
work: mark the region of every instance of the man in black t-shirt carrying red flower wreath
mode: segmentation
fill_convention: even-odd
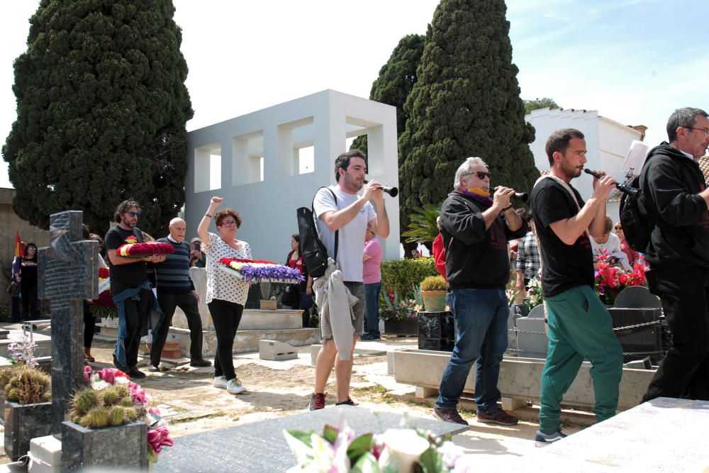
[[[144,378],[138,369],[140,327],[150,311],[150,283],[147,282],[146,262],[159,263],[164,256],[125,257],[118,247],[125,243],[143,243],[143,234],[135,225],[140,217],[140,205],[133,200],[121,202],[113,218],[118,225],[106,233],[104,243],[111,274],[111,297],[118,307],[118,339],[113,351],[113,365],[133,378]]]

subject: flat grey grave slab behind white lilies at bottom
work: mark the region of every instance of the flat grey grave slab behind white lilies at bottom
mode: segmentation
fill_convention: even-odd
[[[381,433],[396,428],[399,413],[373,413],[354,406],[335,406],[268,421],[255,422],[174,439],[174,446],[160,456],[156,472],[279,472],[294,467],[296,457],[286,443],[283,430],[316,430],[325,424],[346,420],[355,435]],[[426,418],[409,418],[410,427],[430,430],[436,435],[467,430],[459,424]],[[196,455],[196,452],[228,452],[228,455]]]

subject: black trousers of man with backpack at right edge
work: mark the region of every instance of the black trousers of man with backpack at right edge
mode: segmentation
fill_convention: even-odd
[[[647,272],[652,294],[662,300],[674,345],[661,361],[643,396],[709,401],[709,269],[653,267]]]

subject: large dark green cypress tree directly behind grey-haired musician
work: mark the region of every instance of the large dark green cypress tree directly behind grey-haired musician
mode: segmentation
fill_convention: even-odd
[[[465,157],[485,160],[493,186],[530,191],[539,176],[505,12],[503,0],[437,6],[404,106],[410,117],[399,137],[401,226],[416,208],[445,199]]]

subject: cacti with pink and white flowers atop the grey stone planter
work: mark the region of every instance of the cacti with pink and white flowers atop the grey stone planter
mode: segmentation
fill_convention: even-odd
[[[167,422],[160,411],[150,407],[145,390],[130,381],[120,369],[105,368],[94,372],[84,367],[86,388],[72,399],[69,417],[84,428],[104,428],[136,420],[147,424],[147,457],[157,462],[162,447],[172,447]]]

